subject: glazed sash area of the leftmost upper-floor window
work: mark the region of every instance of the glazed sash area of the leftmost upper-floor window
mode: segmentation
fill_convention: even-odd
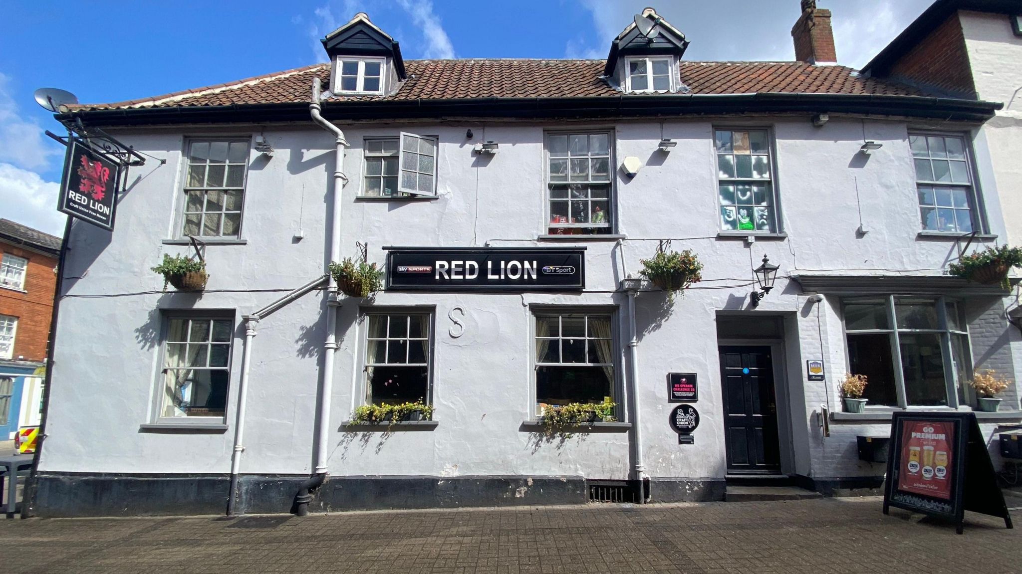
[[[238,238],[244,202],[248,141],[191,140],[181,234]]]

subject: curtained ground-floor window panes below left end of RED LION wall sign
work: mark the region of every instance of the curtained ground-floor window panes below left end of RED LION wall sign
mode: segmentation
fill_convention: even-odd
[[[430,403],[429,314],[372,314],[366,329],[366,402]]]

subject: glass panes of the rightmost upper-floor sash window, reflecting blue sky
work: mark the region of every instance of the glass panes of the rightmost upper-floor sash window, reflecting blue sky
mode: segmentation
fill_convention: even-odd
[[[979,225],[965,139],[910,134],[919,212],[926,231],[971,233]]]

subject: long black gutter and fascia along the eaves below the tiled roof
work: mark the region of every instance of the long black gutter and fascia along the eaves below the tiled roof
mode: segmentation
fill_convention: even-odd
[[[943,121],[985,122],[1004,104],[931,96],[882,94],[653,94],[563,98],[451,98],[316,102],[321,119],[378,121],[436,117],[648,117],[728,113],[853,113]],[[305,122],[310,107],[301,103],[230,104],[220,106],[95,109],[57,114],[58,121],[82,117],[96,126],[155,124],[225,124]],[[329,124],[329,122],[327,122]],[[323,124],[320,124],[323,126]],[[331,125],[332,126],[332,125]],[[329,128],[324,128],[330,130]]]

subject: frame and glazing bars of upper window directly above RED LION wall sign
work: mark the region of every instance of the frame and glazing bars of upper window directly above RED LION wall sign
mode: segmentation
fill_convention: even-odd
[[[599,135],[599,134],[604,134],[604,135],[607,136],[607,162],[608,162],[607,179],[606,180],[593,180],[592,179],[592,162],[591,162],[590,163],[590,171],[589,171],[589,176],[590,176],[589,179],[587,179],[585,181],[582,181],[582,180],[571,181],[571,159],[576,158],[576,157],[570,155],[571,136],[587,136],[587,137],[590,137],[590,136]],[[567,161],[568,161],[567,168],[566,168],[567,172],[565,172],[565,178],[567,178],[567,179],[565,179],[564,181],[553,181],[552,178],[551,178],[551,174],[550,174],[550,162],[551,162],[551,157],[552,157],[551,152],[550,152],[550,138],[555,137],[555,136],[566,136],[567,137],[567,141],[568,141],[568,144],[567,144],[568,145],[568,151],[566,152],[567,155],[564,155],[564,156],[558,155],[558,156],[556,156],[556,158],[558,158],[558,159],[567,159]],[[570,130],[570,131],[560,130],[560,131],[544,132],[544,134],[543,134],[543,157],[544,157],[544,168],[543,168],[543,170],[544,170],[544,177],[545,177],[546,182],[547,182],[547,191],[546,191],[546,194],[544,195],[544,198],[543,198],[544,205],[545,205],[544,209],[543,209],[543,212],[544,212],[543,230],[544,230],[545,234],[553,233],[551,230],[554,230],[554,229],[565,229],[565,230],[571,230],[571,229],[605,229],[605,230],[607,230],[606,234],[599,234],[599,233],[592,234],[593,236],[596,236],[596,237],[600,237],[601,235],[608,235],[608,234],[614,234],[615,233],[615,231],[617,229],[617,186],[615,185],[616,178],[614,177],[614,174],[616,173],[616,168],[615,168],[616,164],[614,163],[614,155],[615,155],[615,149],[614,148],[615,148],[615,140],[614,140],[614,131],[613,130],[608,130],[608,129],[592,129],[592,130]],[[596,156],[594,156],[591,153],[587,152],[586,157],[590,161],[592,161],[592,159],[594,157],[600,158],[600,157],[603,157],[603,156],[602,155],[596,155]],[[582,158],[582,156],[577,156],[577,158]],[[552,223],[551,219],[553,217],[553,210],[551,209],[551,201],[558,200],[558,198],[552,197],[552,193],[553,193],[554,189],[557,188],[557,187],[564,187],[564,188],[568,189],[568,193],[570,194],[570,186],[572,184],[585,185],[585,186],[587,186],[587,187],[590,188],[589,191],[588,191],[588,195],[585,198],[585,200],[590,204],[590,206],[592,205],[593,201],[603,201],[603,198],[595,198],[595,199],[593,198],[593,194],[592,194],[592,189],[591,188],[593,186],[604,186],[604,185],[607,186],[607,198],[606,198],[606,202],[607,202],[607,209],[610,212],[605,216],[606,221],[603,224],[596,224],[596,225],[594,225],[591,222],[586,222],[586,223],[558,223],[558,224]],[[570,199],[571,198],[570,198],[570,195],[569,195],[567,197],[567,201],[569,203],[570,203]],[[592,211],[590,212],[590,217],[592,217]],[[583,236],[583,237],[586,237],[586,236]]]

